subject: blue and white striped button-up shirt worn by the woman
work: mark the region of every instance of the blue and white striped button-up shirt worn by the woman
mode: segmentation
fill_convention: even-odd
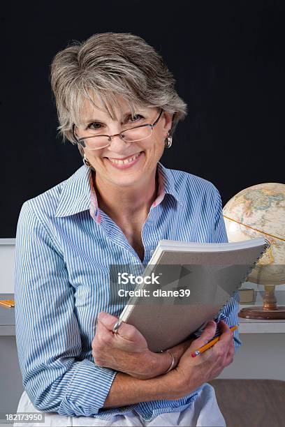
[[[15,250],[16,341],[24,389],[37,410],[110,419],[135,409],[150,421],[163,412],[181,412],[205,386],[180,400],[103,408],[117,371],[94,364],[96,317],[101,311],[119,316],[124,308],[109,304],[110,264],[145,266],[160,239],[228,241],[221,197],[210,181],[160,162],[157,172],[158,197],[142,227],[143,262],[98,208],[86,165],[22,205]],[[230,327],[238,323],[238,292],[220,318]],[[236,350],[238,330],[233,340]]]

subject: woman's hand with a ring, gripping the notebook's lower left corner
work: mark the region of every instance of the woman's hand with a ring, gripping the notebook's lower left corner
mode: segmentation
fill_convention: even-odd
[[[98,366],[112,368],[127,373],[140,380],[147,380],[166,372],[172,357],[168,352],[154,353],[147,347],[145,337],[131,324],[122,322],[117,334],[112,328],[118,318],[101,312],[97,317],[97,327],[92,341],[92,356]],[[191,339],[169,349],[177,365]]]

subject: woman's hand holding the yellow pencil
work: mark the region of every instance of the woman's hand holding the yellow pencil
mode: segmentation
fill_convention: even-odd
[[[216,322],[208,322],[202,334],[193,340],[184,352],[177,367],[167,374],[173,376],[177,399],[190,394],[204,382],[213,380],[232,363],[235,354],[233,332],[224,320],[220,320],[219,327],[221,329],[219,341],[205,352],[191,357],[192,352],[205,345],[216,333]]]

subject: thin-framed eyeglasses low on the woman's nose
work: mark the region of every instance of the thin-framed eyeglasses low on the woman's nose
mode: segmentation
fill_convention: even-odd
[[[134,128],[122,130],[120,133],[115,133],[115,135],[87,135],[85,137],[76,138],[74,133],[75,124],[72,126],[72,133],[74,139],[78,144],[81,145],[82,148],[87,150],[98,150],[108,147],[111,144],[112,138],[118,136],[124,142],[136,142],[141,140],[146,140],[150,135],[152,135],[152,130],[154,126],[159,122],[161,118],[161,112],[159,113],[159,117],[157,117],[156,121],[153,124],[146,123],[140,126],[135,126]],[[92,129],[89,129],[89,133],[92,132]]]

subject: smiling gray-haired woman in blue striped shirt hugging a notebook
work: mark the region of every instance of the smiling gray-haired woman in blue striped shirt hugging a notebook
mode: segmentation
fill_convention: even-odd
[[[207,381],[240,345],[236,294],[216,320],[221,340],[195,359],[216,322],[160,354],[131,325],[112,333],[124,306],[110,303],[110,264],[145,266],[160,239],[227,241],[217,188],[159,162],[186,114],[173,76],[142,38],[101,33],[59,52],[51,82],[59,130],[85,164],[20,212],[18,412],[45,412],[39,425],[224,426]]]

